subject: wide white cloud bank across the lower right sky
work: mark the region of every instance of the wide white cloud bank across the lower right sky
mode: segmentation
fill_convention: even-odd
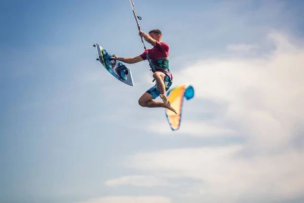
[[[136,170],[172,173],[200,180],[196,195],[206,202],[236,202],[243,195],[285,199],[304,188],[304,152],[288,150],[271,156],[237,156],[242,146],[205,147],[138,153],[128,165]],[[171,177],[172,178],[172,177]]]

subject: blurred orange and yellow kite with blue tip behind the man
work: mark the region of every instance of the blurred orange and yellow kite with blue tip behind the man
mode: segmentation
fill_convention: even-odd
[[[191,85],[183,84],[177,86],[167,92],[168,100],[171,101],[171,106],[176,110],[177,114],[166,109],[166,117],[172,130],[179,129],[183,99],[189,100],[194,97],[194,88]]]

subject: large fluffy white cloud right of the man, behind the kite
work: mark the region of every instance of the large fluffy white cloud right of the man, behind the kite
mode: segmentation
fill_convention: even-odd
[[[304,49],[279,33],[269,38],[276,49],[267,56],[203,60],[175,76],[176,83],[191,81],[196,97],[225,104],[218,125],[234,126],[264,150],[289,145],[304,121]]]

